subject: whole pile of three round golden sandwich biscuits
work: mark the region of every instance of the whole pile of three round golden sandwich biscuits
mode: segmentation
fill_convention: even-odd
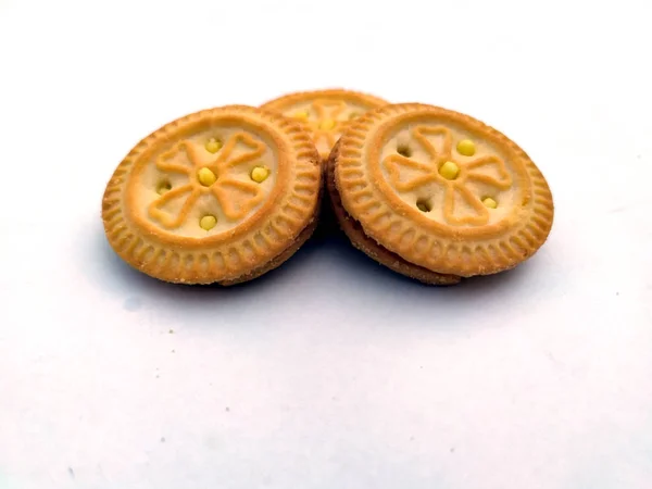
[[[211,109],[161,127],[115,170],[102,218],[137,269],[230,285],[277,267],[310,238],[323,189],[354,247],[426,284],[518,265],[553,220],[541,172],[498,130],[349,90]]]

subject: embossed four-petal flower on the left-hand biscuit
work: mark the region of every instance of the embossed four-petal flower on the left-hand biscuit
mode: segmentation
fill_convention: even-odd
[[[236,151],[239,147],[244,151]],[[204,193],[212,195],[218,202],[224,215],[230,221],[244,217],[264,197],[260,184],[237,178],[248,163],[254,162],[265,152],[265,145],[247,133],[231,135],[216,154],[208,152],[203,147],[192,141],[180,141],[156,159],[156,168],[165,174],[183,174],[188,176],[188,183],[172,188],[155,199],[149,206],[151,217],[165,227],[175,228],[184,224],[188,214]],[[251,165],[250,165],[251,166]],[[202,184],[198,173],[209,168],[215,180],[211,185]],[[171,215],[163,208],[175,199],[181,199],[183,204],[176,215]]]

